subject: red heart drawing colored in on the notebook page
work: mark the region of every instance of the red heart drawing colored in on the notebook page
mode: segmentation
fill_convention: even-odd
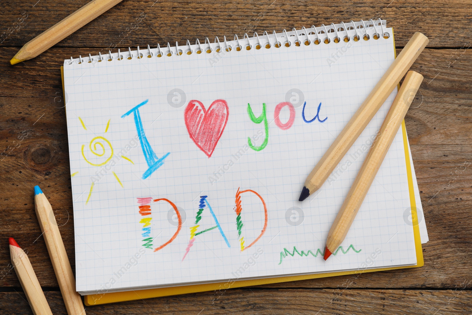
[[[208,157],[215,150],[228,122],[229,109],[225,100],[213,101],[205,110],[202,102],[192,100],[185,107],[185,126],[190,138]]]

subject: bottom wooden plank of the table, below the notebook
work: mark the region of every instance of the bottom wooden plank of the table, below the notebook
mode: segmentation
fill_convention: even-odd
[[[59,292],[45,292],[53,314],[66,315]],[[229,289],[88,306],[93,314],[470,314],[472,292],[392,289]],[[23,292],[0,292],[2,314],[32,314]]]

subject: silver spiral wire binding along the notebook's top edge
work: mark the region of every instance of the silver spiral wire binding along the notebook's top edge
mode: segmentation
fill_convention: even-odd
[[[367,24],[366,24],[367,23]],[[377,29],[377,26],[380,26],[381,35]],[[354,30],[354,32],[352,32]],[[363,30],[363,35],[360,34]],[[218,36],[215,37],[213,43],[210,42],[208,37],[205,37],[205,43],[200,43],[200,40],[197,38],[195,40],[195,44],[191,45],[190,41],[187,40],[185,46],[178,46],[178,42],[176,42],[175,50],[173,51],[170,43],[167,43],[166,51],[162,51],[160,48],[159,43],[157,44],[157,48],[152,49],[149,45],[147,45],[147,58],[153,58],[154,56],[157,58],[161,58],[165,56],[181,56],[184,53],[187,55],[191,55],[194,52],[200,54],[202,52],[212,53],[213,51],[217,53],[229,53],[230,51],[235,48],[235,51],[245,50],[252,50],[253,47],[257,50],[265,47],[266,49],[272,48],[280,48],[282,45],[286,47],[290,47],[292,44],[295,46],[300,46],[302,43],[304,45],[320,45],[321,43],[329,44],[331,41],[334,43],[341,43],[341,42],[349,42],[354,40],[355,42],[360,41],[362,38],[365,41],[371,39],[371,35],[368,33],[369,31],[373,30],[372,37],[374,40],[378,40],[380,37],[385,39],[390,37],[390,34],[387,32],[387,21],[382,19],[377,19],[375,22],[373,19],[369,19],[368,22],[360,20],[359,22],[354,22],[351,20],[350,22],[344,23],[341,22],[340,24],[335,25],[331,23],[329,26],[325,26],[321,24],[321,26],[316,27],[312,25],[308,30],[302,26],[300,30],[292,29],[292,31],[287,32],[285,29],[281,33],[276,33],[274,30],[272,34],[267,33],[266,31],[263,32],[262,36],[259,37],[257,32],[254,32],[253,37],[249,37],[247,33],[244,33],[243,39],[240,41],[237,34],[234,36],[234,40],[227,41],[226,36],[223,36],[223,43],[224,46],[220,43]],[[351,35],[354,35],[353,38],[349,36],[349,32],[351,31]],[[346,34],[342,39],[340,34]],[[334,33],[334,38],[330,38],[331,33]],[[362,37],[361,37],[362,36]],[[314,38],[313,38],[314,37]],[[261,40],[262,38],[262,40]],[[293,39],[291,41],[291,39]],[[247,41],[247,43],[246,43]],[[185,48],[184,48],[185,47]],[[153,52],[154,51],[154,52]],[[128,60],[132,60],[136,57],[136,59],[141,59],[144,57],[144,54],[140,51],[139,46],[137,47],[137,54],[136,56],[133,55],[133,51],[131,51],[131,47],[128,47],[129,56],[126,58]],[[112,53],[110,50],[108,51],[109,58],[104,58],[101,52],[98,53],[98,56],[92,56],[89,54],[89,58],[86,63],[94,63],[94,62],[102,62],[104,60],[112,61],[112,60],[123,60],[124,56],[121,51],[118,49],[118,53]],[[86,58],[86,57],[85,57]],[[64,60],[65,65],[72,65],[73,63],[76,64],[83,64],[85,60],[82,56],[79,55],[79,58],[73,59],[70,57],[70,60]]]

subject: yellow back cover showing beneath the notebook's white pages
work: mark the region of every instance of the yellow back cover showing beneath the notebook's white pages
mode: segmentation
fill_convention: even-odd
[[[395,45],[395,40],[394,40],[394,45]],[[64,90],[63,67],[61,67],[61,77],[62,77],[62,87]],[[416,259],[417,259],[416,265],[377,268],[377,269],[358,269],[358,270],[343,271],[343,272],[324,272],[324,273],[295,275],[295,276],[273,277],[273,278],[266,278],[266,279],[253,279],[253,280],[241,280],[241,281],[231,280],[231,281],[226,281],[226,282],[175,286],[175,287],[158,288],[158,289],[141,289],[141,290],[131,290],[131,291],[123,291],[123,292],[91,294],[91,295],[84,296],[85,305],[93,306],[93,305],[131,301],[131,300],[144,299],[144,298],[157,298],[157,297],[164,297],[164,296],[171,296],[171,295],[178,295],[178,294],[202,292],[202,291],[211,291],[211,290],[220,290],[220,289],[226,290],[230,288],[240,288],[240,287],[263,285],[263,284],[270,284],[270,283],[277,283],[277,282],[317,279],[317,278],[323,278],[323,277],[332,277],[332,276],[355,274],[355,273],[362,273],[362,272],[375,272],[375,271],[414,268],[414,267],[423,266],[424,262],[423,262],[422,248],[421,248],[420,230],[419,230],[418,220],[417,220],[418,217],[416,213],[416,201],[415,201],[415,196],[414,196],[414,191],[413,191],[412,166],[410,163],[408,141],[407,141],[407,135],[406,135],[406,129],[405,129],[405,121],[402,122],[402,134],[403,134],[403,143],[404,143],[404,151],[405,151],[408,188],[409,188],[409,195],[410,195],[410,206],[412,209],[412,218],[413,218],[413,234],[414,234]]]

